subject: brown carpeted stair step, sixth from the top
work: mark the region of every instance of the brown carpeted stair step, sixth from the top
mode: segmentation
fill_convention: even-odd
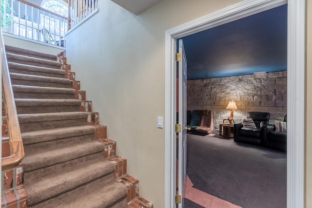
[[[80,100],[75,99],[15,99],[17,112],[26,113],[54,113],[54,112],[78,112]]]

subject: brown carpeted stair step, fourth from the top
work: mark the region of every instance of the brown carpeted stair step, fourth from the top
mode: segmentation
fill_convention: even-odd
[[[70,88],[71,81],[66,78],[25,75],[10,73],[12,84],[39,86],[39,87],[59,87]]]

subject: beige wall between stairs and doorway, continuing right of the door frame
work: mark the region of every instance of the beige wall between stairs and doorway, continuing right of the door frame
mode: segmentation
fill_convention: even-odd
[[[157,116],[164,117],[165,109],[165,31],[239,1],[163,0],[135,16],[110,0],[101,0],[100,12],[67,36],[68,62],[81,89],[99,112],[100,124],[107,125],[108,137],[117,141],[117,154],[128,160],[128,173],[139,179],[140,195],[155,208],[164,207],[164,129],[157,129],[156,121]],[[310,14],[311,10],[309,5]],[[308,58],[311,48],[310,41]],[[308,83],[308,101],[312,101],[311,87]],[[307,114],[311,113],[309,105]],[[307,116],[307,122],[311,120]],[[308,150],[310,140],[307,137]],[[307,207],[312,207],[310,151],[306,158]]]

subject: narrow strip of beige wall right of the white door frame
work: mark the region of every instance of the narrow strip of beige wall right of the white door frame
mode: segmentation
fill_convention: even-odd
[[[306,123],[312,123],[312,0],[307,0]],[[312,129],[306,125],[306,208],[312,208]]]

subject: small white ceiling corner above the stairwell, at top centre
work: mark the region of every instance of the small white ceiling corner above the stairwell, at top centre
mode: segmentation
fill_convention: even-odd
[[[112,0],[129,12],[139,15],[162,0]]]

